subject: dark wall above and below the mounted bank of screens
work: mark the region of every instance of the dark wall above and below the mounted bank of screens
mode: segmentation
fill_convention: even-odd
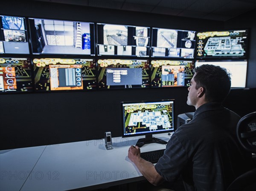
[[[1,2],[0,13],[197,31],[224,28],[223,22],[210,20],[33,1]],[[99,139],[105,131],[118,137],[121,101],[175,99],[176,119],[195,111],[186,105],[187,93],[186,87],[175,87],[0,95],[0,149]],[[253,110],[254,94],[255,89],[232,90],[224,105],[244,115]]]

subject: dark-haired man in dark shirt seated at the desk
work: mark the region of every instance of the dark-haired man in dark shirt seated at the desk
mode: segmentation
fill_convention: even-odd
[[[153,185],[182,177],[186,191],[225,191],[239,175],[252,168],[252,157],[236,137],[239,115],[221,103],[230,92],[230,74],[225,68],[202,65],[195,68],[187,104],[195,106],[193,119],[180,126],[154,166],[131,146],[129,159]]]

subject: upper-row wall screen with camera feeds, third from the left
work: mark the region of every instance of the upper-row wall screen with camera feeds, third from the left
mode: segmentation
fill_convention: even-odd
[[[97,23],[98,55],[149,57],[150,28]]]

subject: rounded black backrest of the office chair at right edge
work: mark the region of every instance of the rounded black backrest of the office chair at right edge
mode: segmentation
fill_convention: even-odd
[[[239,120],[236,126],[236,134],[244,149],[256,153],[256,111]]]

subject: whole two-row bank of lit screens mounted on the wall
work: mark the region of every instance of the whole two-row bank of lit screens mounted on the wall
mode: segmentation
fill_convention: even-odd
[[[0,15],[0,93],[188,87],[193,69],[206,63],[226,67],[232,87],[244,88],[248,42],[248,29],[196,32]]]

